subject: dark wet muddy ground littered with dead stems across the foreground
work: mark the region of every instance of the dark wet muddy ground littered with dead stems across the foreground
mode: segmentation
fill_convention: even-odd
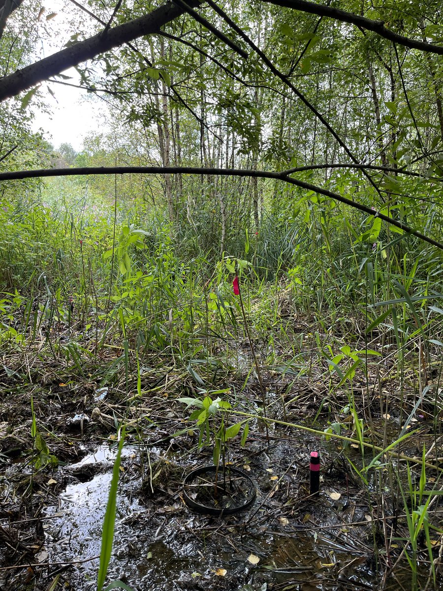
[[[259,407],[260,395],[253,374],[242,389],[247,368],[240,369],[230,375],[229,399],[237,410],[250,412]],[[331,379],[319,375],[295,379],[294,372],[265,369],[268,416],[314,424],[320,431],[340,424],[341,434],[352,435],[346,395],[337,389],[332,404]],[[363,381],[360,376],[353,387],[364,413],[371,414],[372,440],[389,444],[402,417],[394,402],[395,377],[377,375],[370,387]],[[230,443],[229,462],[253,479],[255,501],[234,515],[199,514],[185,504],[183,482],[194,467],[211,465],[212,449],[198,446],[198,430],[187,421],[190,411],[176,400],[198,395],[190,374],[146,366],[142,397],[133,396],[131,380],[127,391],[128,379],[123,384],[121,375],[104,382],[97,370],[67,374],[54,364],[43,372],[18,359],[0,369],[1,591],[96,589],[123,418],[129,427],[108,582],[119,579],[138,591],[411,589],[411,569],[402,556],[405,512],[398,488],[386,485],[383,458],[367,475],[366,487],[348,462],[361,467],[358,445],[272,423],[266,437],[263,421],[254,420],[244,447],[240,436]],[[423,443],[426,449],[434,443],[428,460],[438,462],[443,454],[435,433],[441,420],[425,404],[416,417],[417,431],[401,452],[421,457]],[[318,498],[309,492],[312,450],[321,453]],[[372,453],[365,453],[366,463],[370,459]],[[386,462],[401,465],[395,457]],[[418,482],[419,468],[411,463],[409,472]],[[438,483],[438,473],[429,471],[427,478],[428,488]],[[438,502],[433,510],[439,525]],[[442,537],[432,535],[439,571]],[[420,588],[443,589],[443,577],[437,573],[434,587],[428,572],[428,551],[420,539]]]

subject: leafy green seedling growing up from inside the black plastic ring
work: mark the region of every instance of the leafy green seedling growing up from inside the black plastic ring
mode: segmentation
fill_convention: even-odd
[[[196,407],[191,413],[189,420],[196,421],[198,434],[198,447],[204,447],[212,444],[213,446],[213,463],[216,467],[216,476],[214,480],[214,498],[217,498],[219,493],[219,472],[220,466],[223,473],[223,491],[226,491],[226,479],[230,479],[230,463],[229,458],[229,442],[236,437],[243,427],[242,439],[240,441],[242,447],[246,443],[247,435],[249,433],[249,419],[229,424],[230,410],[232,405],[227,400],[222,400],[220,394],[227,394],[229,388],[223,390],[203,391],[203,398],[179,398],[179,402],[183,402],[187,407]],[[217,398],[212,397],[216,395]],[[229,485],[229,482],[228,482]]]

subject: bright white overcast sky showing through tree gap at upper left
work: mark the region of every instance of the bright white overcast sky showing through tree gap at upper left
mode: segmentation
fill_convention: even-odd
[[[80,9],[73,4],[66,5],[63,0],[44,0],[42,7],[45,8],[45,12],[41,21],[49,31],[50,37],[48,41],[41,42],[36,57],[46,57],[63,48],[69,37],[76,33],[72,28],[73,22],[76,17],[80,17],[79,13],[81,13]],[[45,21],[47,15],[54,12],[56,16]],[[74,68],[65,70],[63,73],[72,77],[67,82],[79,83],[79,74]],[[48,92],[47,86],[50,87],[54,96]],[[106,113],[106,103],[103,100],[87,95],[83,90],[51,82],[43,83],[40,92],[50,112],[44,113],[34,108],[35,120],[32,128],[34,131],[43,131],[44,137],[55,148],[66,142],[79,151],[82,149],[83,138],[86,135],[105,131],[103,114]]]

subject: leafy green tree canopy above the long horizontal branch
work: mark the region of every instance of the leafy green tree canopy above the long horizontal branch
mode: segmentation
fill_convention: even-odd
[[[235,192],[240,181],[219,179],[220,168],[286,170],[300,189],[372,208],[379,214],[368,230],[373,240],[380,219],[395,219],[400,232],[408,224],[423,229],[420,204],[440,215],[439,2],[74,4],[95,34],[73,33],[53,55],[9,67],[0,100],[25,92],[25,112],[35,85],[70,84],[63,71],[76,66],[82,86],[111,105],[110,125],[125,129],[116,144],[128,164],[212,169],[200,175],[198,193],[218,203],[222,250],[222,185]],[[19,21],[20,11],[11,19]],[[193,182],[162,175],[171,222],[198,209]],[[269,193],[258,176],[247,188],[241,183],[240,209],[258,229],[263,194],[278,210],[286,190],[275,185]],[[438,228],[431,233],[441,241]]]

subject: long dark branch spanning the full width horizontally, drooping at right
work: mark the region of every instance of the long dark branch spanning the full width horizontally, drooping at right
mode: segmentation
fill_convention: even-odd
[[[293,172],[293,170],[292,170]],[[422,234],[418,230],[414,230],[410,226],[400,222],[399,220],[393,219],[393,217],[386,216],[383,213],[377,212],[372,207],[358,203],[343,197],[334,191],[323,189],[311,183],[305,183],[297,178],[288,176],[291,174],[291,170],[284,170],[281,173],[268,172],[264,170],[242,170],[239,168],[205,168],[205,167],[194,167],[194,166],[109,166],[109,167],[90,167],[90,168],[48,168],[40,170],[19,170],[11,171],[6,173],[0,173],[0,181],[7,180],[22,180],[24,178],[41,178],[41,177],[67,177],[67,176],[79,176],[79,175],[90,175],[90,174],[207,174],[210,176],[225,176],[225,177],[256,177],[256,178],[272,178],[273,180],[284,181],[285,183],[292,184],[301,189],[307,191],[313,191],[330,199],[334,199],[339,203],[344,203],[354,209],[358,209],[360,212],[367,213],[368,215],[379,217],[384,222],[389,223],[395,228],[403,230],[407,234],[416,236],[424,242],[428,242],[432,246],[443,251],[443,243],[434,240],[430,236]]]

